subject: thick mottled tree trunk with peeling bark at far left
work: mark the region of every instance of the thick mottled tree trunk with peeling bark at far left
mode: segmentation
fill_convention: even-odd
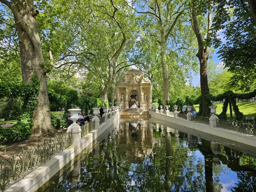
[[[45,134],[49,131],[56,131],[51,124],[46,82],[47,70],[44,68],[43,53],[36,20],[38,12],[35,11],[33,1],[31,0],[14,0],[11,3],[11,10],[14,14],[18,32],[23,81],[30,82],[30,78],[34,73],[40,80],[40,90],[33,113],[34,127],[32,134]],[[26,23],[25,27],[22,22]]]

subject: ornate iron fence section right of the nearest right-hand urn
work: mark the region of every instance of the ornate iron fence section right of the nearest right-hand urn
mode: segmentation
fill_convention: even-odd
[[[250,135],[256,135],[256,125],[252,123],[217,119],[217,127],[222,127],[224,129],[229,129],[236,132],[243,132]]]

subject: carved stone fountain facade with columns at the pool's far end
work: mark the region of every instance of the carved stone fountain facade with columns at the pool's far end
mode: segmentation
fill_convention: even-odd
[[[136,99],[131,99],[131,95],[137,94]],[[152,106],[152,84],[150,80],[143,77],[139,70],[132,69],[124,73],[124,78],[116,86],[117,106],[122,111],[131,108],[136,104],[142,111],[148,111],[148,106]]]

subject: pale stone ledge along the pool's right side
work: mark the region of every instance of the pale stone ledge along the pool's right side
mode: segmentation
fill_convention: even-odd
[[[244,143],[244,144],[256,147],[256,136],[253,136],[253,135],[249,135],[241,132],[234,132],[232,130],[223,129],[220,127],[210,127],[210,125],[192,122],[192,121],[189,122],[185,119],[174,118],[164,114],[155,113],[152,111],[149,111],[149,114],[151,115],[151,117],[154,117],[157,119],[165,120],[174,124],[182,125],[184,127],[188,127],[188,128],[206,132],[218,137],[223,137],[225,139],[230,139],[232,141],[237,141],[240,143]]]

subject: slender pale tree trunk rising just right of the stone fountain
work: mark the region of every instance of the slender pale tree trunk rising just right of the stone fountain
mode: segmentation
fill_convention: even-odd
[[[166,100],[169,100],[169,78],[168,78],[168,65],[166,62],[166,43],[165,42],[161,42],[161,65],[163,70],[164,106],[166,106]]]

